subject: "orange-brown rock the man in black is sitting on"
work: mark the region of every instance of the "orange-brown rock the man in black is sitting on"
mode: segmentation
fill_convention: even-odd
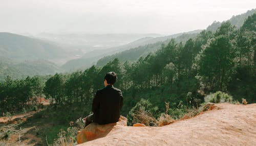
[[[127,126],[127,118],[120,115],[119,121],[117,123],[110,123],[105,125],[91,123],[82,131],[77,132],[77,143],[79,144],[104,137],[116,126]]]

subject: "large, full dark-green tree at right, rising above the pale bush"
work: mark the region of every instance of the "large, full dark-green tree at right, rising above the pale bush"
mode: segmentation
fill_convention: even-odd
[[[233,27],[229,22],[222,23],[202,51],[199,61],[199,75],[208,90],[226,90],[229,77],[234,66],[235,50],[233,40]]]

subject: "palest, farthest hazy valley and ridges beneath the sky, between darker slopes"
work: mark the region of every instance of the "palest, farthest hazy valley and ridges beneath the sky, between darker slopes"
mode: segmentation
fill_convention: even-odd
[[[40,33],[35,38],[58,43],[67,51],[80,51],[83,55],[93,50],[102,50],[124,45],[142,37],[159,37],[159,34],[51,34]]]

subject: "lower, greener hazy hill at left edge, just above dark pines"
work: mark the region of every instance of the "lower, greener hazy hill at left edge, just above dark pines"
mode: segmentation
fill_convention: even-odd
[[[0,58],[0,81],[5,80],[7,76],[24,79],[27,76],[53,75],[60,71],[62,70],[58,66],[46,60],[16,62],[8,58]]]

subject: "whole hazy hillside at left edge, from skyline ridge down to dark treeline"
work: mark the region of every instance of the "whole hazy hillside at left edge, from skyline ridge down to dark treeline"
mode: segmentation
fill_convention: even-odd
[[[67,53],[55,43],[0,32],[0,81],[7,76],[24,79],[27,76],[53,75],[62,71],[53,62],[66,56]]]

